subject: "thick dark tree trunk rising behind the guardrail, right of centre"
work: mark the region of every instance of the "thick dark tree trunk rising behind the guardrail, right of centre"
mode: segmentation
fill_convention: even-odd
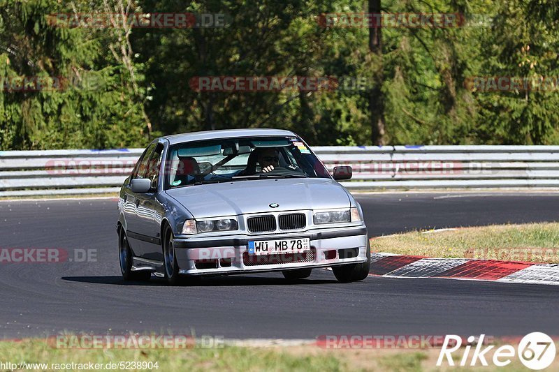
[[[381,0],[369,0],[369,13],[381,13]],[[379,17],[372,16],[373,20],[380,20]],[[374,66],[373,75],[374,87],[370,91],[369,110],[371,112],[371,140],[372,144],[382,146],[384,144],[384,97],[382,96],[382,83],[384,76],[382,73],[382,28],[381,24],[375,24],[369,28],[369,51],[376,54],[372,60],[377,61]]]

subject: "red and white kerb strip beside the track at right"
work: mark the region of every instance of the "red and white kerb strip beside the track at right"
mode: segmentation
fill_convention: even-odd
[[[559,285],[559,264],[371,253],[370,275]]]

